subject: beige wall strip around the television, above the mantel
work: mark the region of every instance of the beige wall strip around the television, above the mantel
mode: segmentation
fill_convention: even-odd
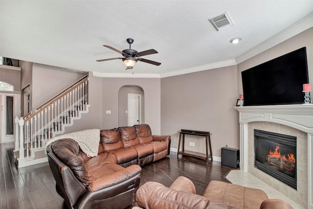
[[[276,45],[240,64],[238,64],[238,91],[243,93],[241,71],[247,70],[269,60],[272,60],[281,55],[287,54],[291,51],[299,49],[301,47],[307,47],[307,59],[308,59],[308,70],[309,70],[309,81],[313,82],[313,27],[305,30],[298,35]]]

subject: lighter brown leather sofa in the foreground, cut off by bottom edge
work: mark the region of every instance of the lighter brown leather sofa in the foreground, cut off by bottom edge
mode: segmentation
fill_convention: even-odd
[[[292,209],[283,200],[269,200],[260,189],[220,181],[211,181],[201,196],[196,194],[194,184],[182,176],[170,187],[147,182],[137,190],[136,204],[144,209]]]

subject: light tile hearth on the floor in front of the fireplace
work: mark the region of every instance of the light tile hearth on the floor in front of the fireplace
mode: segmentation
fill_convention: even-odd
[[[242,170],[231,170],[226,179],[229,180],[232,184],[246,186],[250,188],[258,188],[262,189],[267,193],[269,199],[281,199],[291,204],[293,209],[304,209],[299,204],[295,203],[290,198],[286,197],[282,193],[278,192],[277,190],[273,189],[272,187],[268,186],[258,178],[254,177],[249,173],[245,173]]]

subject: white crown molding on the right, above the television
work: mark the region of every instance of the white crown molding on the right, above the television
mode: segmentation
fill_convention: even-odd
[[[241,62],[246,61],[247,59],[273,47],[276,46],[287,39],[313,27],[313,13],[306,16],[305,18],[301,19],[300,21],[291,24],[291,26],[287,27],[286,29],[282,30],[281,32],[275,34],[274,36],[270,37],[266,41],[262,42],[261,44],[251,48],[250,50],[246,51],[242,55],[235,58],[236,63],[239,64]]]

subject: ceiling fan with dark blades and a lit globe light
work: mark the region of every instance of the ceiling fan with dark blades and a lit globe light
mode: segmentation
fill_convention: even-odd
[[[102,61],[108,61],[108,60],[121,59],[121,60],[123,60],[124,64],[126,65],[126,70],[133,69],[133,67],[134,67],[134,65],[136,64],[137,61],[149,63],[149,64],[156,65],[156,66],[161,65],[161,63],[141,58],[141,56],[158,53],[155,49],[149,49],[149,50],[138,52],[135,49],[131,48],[131,45],[133,44],[134,39],[126,39],[126,41],[129,44],[129,48],[124,49],[123,51],[120,51],[120,50],[118,50],[116,48],[113,48],[112,46],[103,45],[103,46],[105,46],[107,48],[110,48],[110,49],[112,49],[112,50],[122,54],[123,57],[115,57],[115,58],[96,60],[96,61],[97,62],[102,62]]]

